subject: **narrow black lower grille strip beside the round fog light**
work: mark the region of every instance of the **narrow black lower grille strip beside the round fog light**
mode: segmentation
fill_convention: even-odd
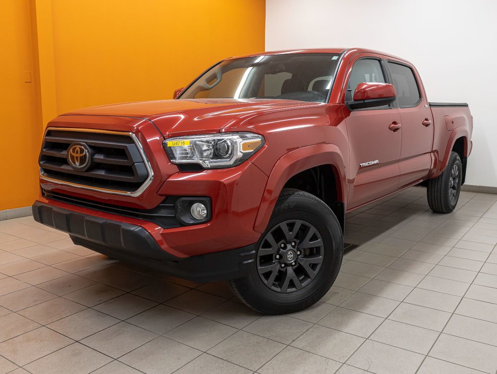
[[[136,209],[120,205],[100,203],[44,189],[42,189],[42,196],[47,199],[57,200],[62,203],[76,205],[78,207],[88,208],[99,212],[149,221],[163,228],[182,226],[182,224],[176,219],[175,210],[176,200],[178,200],[179,196],[168,196],[161,204],[152,209]]]

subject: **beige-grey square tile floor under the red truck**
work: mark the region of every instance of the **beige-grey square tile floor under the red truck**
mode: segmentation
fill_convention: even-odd
[[[496,374],[496,202],[439,215],[411,188],[348,215],[335,285],[281,316],[1,221],[0,374]]]

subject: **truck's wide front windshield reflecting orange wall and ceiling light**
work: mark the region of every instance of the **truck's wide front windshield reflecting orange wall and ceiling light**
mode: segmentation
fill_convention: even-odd
[[[180,99],[284,99],[323,103],[336,53],[298,53],[223,61],[201,75]]]

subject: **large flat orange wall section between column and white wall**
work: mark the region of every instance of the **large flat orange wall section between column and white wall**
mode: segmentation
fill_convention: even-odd
[[[52,0],[59,113],[167,99],[207,67],[264,50],[265,0]]]

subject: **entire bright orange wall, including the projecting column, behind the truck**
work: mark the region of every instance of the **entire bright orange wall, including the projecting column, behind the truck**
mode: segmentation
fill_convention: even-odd
[[[38,196],[52,117],[171,98],[217,61],[263,51],[264,25],[265,0],[1,0],[0,210]]]

